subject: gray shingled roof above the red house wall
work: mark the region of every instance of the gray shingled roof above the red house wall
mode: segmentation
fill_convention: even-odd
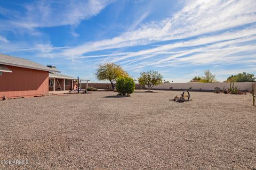
[[[19,58],[19,57],[14,57],[14,56],[10,56],[10,55],[5,55],[5,54],[0,54],[0,64],[23,67],[23,68],[27,68],[27,69],[60,72],[56,69],[35,63],[30,60],[26,60],[26,59]]]

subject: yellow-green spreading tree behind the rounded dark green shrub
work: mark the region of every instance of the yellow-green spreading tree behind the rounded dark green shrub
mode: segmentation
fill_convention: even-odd
[[[112,89],[115,87],[116,79],[128,77],[128,73],[123,70],[120,65],[115,63],[100,64],[95,76],[98,80],[108,80],[111,83]]]

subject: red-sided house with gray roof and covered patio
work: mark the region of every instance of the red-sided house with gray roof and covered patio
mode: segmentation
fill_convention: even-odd
[[[0,54],[0,99],[47,95],[50,91],[75,88],[75,78],[19,57]],[[54,86],[55,85],[55,86]]]

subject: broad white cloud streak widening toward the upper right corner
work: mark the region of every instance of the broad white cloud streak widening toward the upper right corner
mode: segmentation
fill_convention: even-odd
[[[77,56],[97,50],[147,45],[225,31],[256,22],[255,9],[254,1],[193,1],[171,18],[142,25],[113,39],[85,43],[62,54]]]

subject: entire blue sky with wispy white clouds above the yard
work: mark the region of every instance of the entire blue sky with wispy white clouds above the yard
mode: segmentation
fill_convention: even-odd
[[[0,53],[99,82],[114,62],[137,79],[256,74],[256,1],[0,1]]]

